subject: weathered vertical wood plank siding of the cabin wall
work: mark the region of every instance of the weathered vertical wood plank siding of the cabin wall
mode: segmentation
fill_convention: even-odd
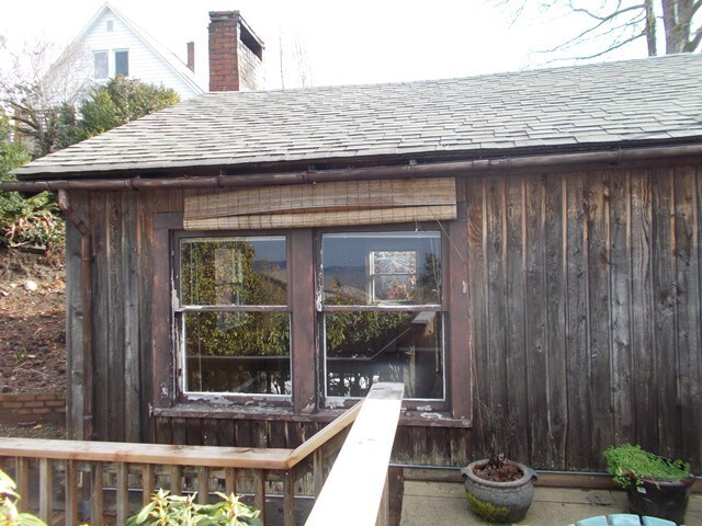
[[[517,423],[513,456],[542,469],[602,469],[637,442],[702,468],[702,167],[469,178],[466,262],[473,428],[400,426],[394,460],[483,456],[477,401]],[[295,447],[318,423],[151,418],[154,214],[183,192],[71,192],[93,232],[97,438]],[[456,228],[452,225],[452,228]],[[71,437],[82,438],[80,238],[67,240]],[[461,300],[461,298],[452,298]],[[158,331],[157,331],[158,332]],[[460,339],[458,339],[460,341]],[[312,371],[310,371],[312,373]],[[455,381],[455,380],[454,380]],[[466,387],[465,396],[471,396]],[[307,401],[305,401],[307,404]]]

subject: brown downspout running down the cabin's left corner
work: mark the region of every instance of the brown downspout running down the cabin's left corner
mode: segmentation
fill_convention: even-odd
[[[58,191],[58,206],[66,216],[66,219],[76,227],[80,233],[80,275],[81,275],[81,307],[82,307],[82,348],[83,348],[83,411],[82,411],[82,439],[94,441],[94,389],[93,389],[93,345],[92,345],[92,253],[90,245],[90,229],[71,208],[68,202],[68,192]],[[70,350],[69,350],[70,352]]]

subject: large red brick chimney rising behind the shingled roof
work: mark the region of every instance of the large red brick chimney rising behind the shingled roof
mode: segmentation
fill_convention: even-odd
[[[239,11],[210,12],[210,91],[263,88],[263,42]]]

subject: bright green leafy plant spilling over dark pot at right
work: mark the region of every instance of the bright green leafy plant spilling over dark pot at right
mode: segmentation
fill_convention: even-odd
[[[639,485],[644,479],[679,482],[690,477],[690,465],[646,451],[638,445],[610,446],[603,453],[607,471],[622,488]]]

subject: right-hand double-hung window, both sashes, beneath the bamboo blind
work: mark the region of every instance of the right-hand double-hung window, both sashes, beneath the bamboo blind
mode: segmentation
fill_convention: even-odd
[[[327,398],[381,380],[404,381],[406,399],[445,398],[441,255],[438,231],[322,235]]]

